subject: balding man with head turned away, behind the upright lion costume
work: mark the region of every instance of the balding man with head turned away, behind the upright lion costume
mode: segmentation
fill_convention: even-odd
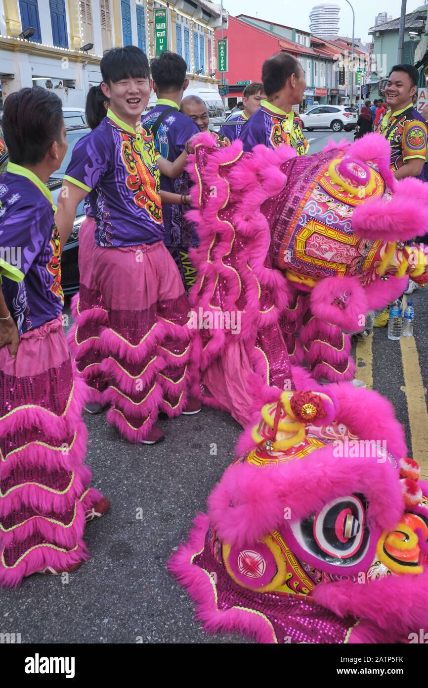
[[[300,117],[293,111],[293,105],[302,103],[306,87],[302,66],[293,56],[277,53],[264,61],[262,82],[266,100],[240,132],[244,151],[258,144],[276,148],[285,143],[293,146],[297,155],[305,155],[309,144]]]

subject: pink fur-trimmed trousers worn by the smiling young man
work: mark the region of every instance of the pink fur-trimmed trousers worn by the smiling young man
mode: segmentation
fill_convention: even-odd
[[[95,246],[92,272],[107,322],[101,370],[107,420],[130,442],[144,440],[159,411],[179,416],[190,386],[190,307],[163,242]]]

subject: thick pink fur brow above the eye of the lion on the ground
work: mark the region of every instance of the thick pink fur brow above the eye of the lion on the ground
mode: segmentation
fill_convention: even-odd
[[[308,517],[340,495],[361,491],[370,504],[368,517],[384,530],[396,526],[404,504],[396,469],[370,458],[337,458],[333,447],[320,449],[300,462],[259,469],[236,464],[225,471],[210,497],[208,515],[222,540],[252,544],[284,519],[284,506],[293,520]],[[306,499],[313,495],[311,502]],[[306,496],[305,496],[306,495]]]

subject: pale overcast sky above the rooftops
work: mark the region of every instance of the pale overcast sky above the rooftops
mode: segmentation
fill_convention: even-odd
[[[217,2],[219,0],[216,0]],[[355,37],[363,42],[370,41],[368,30],[374,26],[374,17],[379,12],[387,12],[392,19],[400,16],[401,0],[350,0],[355,12]],[[296,29],[309,30],[309,12],[322,0],[223,0],[226,10],[236,17],[238,14],[249,14],[260,19],[269,19],[278,24],[292,26]],[[346,0],[332,0],[340,5],[339,34],[352,36],[352,10]],[[407,0],[406,13],[416,10],[424,0]]]

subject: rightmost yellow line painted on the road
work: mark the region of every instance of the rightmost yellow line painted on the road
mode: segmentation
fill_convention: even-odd
[[[403,312],[407,305],[403,297]],[[428,413],[425,401],[425,387],[420,372],[418,350],[414,337],[401,337],[401,359],[403,361],[404,387],[407,400],[412,456],[420,465],[420,472],[428,479]]]

